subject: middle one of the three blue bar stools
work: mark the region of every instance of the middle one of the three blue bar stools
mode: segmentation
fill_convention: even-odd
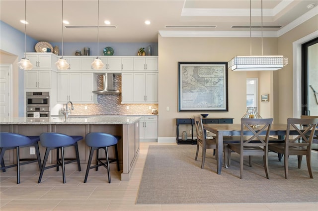
[[[49,168],[56,168],[56,171],[59,171],[59,166],[62,166],[62,174],[63,174],[63,183],[66,183],[65,180],[65,164],[71,163],[71,162],[78,162],[78,168],[80,171],[80,162],[79,162],[79,148],[78,148],[78,141],[82,140],[82,136],[68,136],[61,133],[42,133],[40,135],[40,143],[43,147],[46,147],[45,156],[42,164],[41,173],[39,176],[38,183],[41,183],[41,179],[43,176],[43,172],[45,169]],[[64,158],[64,148],[65,147],[75,147],[76,152],[76,158]],[[57,158],[56,158],[56,164],[46,166],[45,164],[48,160],[49,154],[51,150],[57,150]],[[62,158],[60,159],[59,151],[61,149],[61,155]],[[65,162],[65,160],[69,160]]]

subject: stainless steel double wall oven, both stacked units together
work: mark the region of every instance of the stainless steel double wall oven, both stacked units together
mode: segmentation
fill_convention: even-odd
[[[50,117],[50,93],[26,92],[26,117]]]

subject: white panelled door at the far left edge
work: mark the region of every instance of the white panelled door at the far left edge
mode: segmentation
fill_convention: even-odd
[[[11,64],[0,65],[0,117],[10,116]]]

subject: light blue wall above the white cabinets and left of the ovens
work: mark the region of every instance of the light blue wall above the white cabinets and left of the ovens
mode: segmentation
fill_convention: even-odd
[[[28,28],[26,27],[26,34]],[[24,57],[24,33],[20,32],[3,21],[0,21],[0,50],[7,53],[17,55],[20,60]],[[39,42],[29,36],[26,36],[26,52],[35,52],[34,47]],[[53,47],[59,46],[60,54],[62,54],[62,42],[50,43]],[[158,43],[99,43],[99,55],[103,55],[105,47],[111,47],[114,55],[137,55],[140,48],[147,50],[148,46],[152,47],[152,55],[158,55]],[[75,51],[81,51],[83,48],[90,48],[90,55],[97,55],[96,43],[64,43],[64,55],[75,55]],[[147,52],[147,51],[146,51]],[[25,107],[24,103],[24,70],[19,69],[19,116],[23,116]]]

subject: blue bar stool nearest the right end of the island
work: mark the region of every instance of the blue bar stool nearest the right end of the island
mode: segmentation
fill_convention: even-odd
[[[118,148],[117,148],[117,143],[118,143],[118,140],[120,140],[120,139],[121,139],[120,136],[113,136],[113,135],[107,134],[107,133],[94,132],[94,133],[86,134],[85,142],[86,142],[87,146],[90,147],[90,153],[89,153],[84,182],[87,181],[89,169],[96,168],[96,171],[97,171],[98,166],[102,165],[107,169],[108,182],[111,183],[109,163],[117,161],[117,170],[120,171],[119,158],[118,158]],[[108,147],[111,147],[111,146],[115,146],[116,158],[109,158],[108,157]],[[99,155],[98,155],[99,149],[105,150],[106,158],[99,158]],[[96,152],[96,165],[90,166],[95,150],[97,150],[97,152]],[[106,160],[106,162],[103,162],[102,160]]]

